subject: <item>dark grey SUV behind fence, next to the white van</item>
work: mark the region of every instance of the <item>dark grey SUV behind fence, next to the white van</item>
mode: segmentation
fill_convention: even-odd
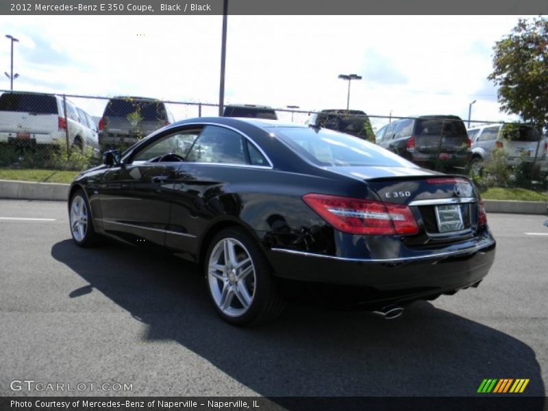
[[[99,144],[103,149],[125,149],[173,121],[163,101],[114,97],[108,101],[99,120]]]

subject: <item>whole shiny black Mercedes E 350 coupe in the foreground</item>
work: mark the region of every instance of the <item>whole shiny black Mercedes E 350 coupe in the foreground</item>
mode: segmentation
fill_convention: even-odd
[[[495,258],[469,179],[329,129],[188,119],[103,163],[71,185],[76,244],[106,235],[196,262],[235,325],[277,316],[288,282],[351,286],[397,316],[477,286]]]

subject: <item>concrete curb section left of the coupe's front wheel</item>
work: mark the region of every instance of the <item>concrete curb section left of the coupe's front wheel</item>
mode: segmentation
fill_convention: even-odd
[[[0,180],[0,199],[66,201],[69,184]]]

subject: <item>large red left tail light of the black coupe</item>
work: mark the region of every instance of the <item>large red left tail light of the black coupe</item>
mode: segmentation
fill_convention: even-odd
[[[419,232],[408,206],[321,194],[307,194],[303,201],[341,232],[369,235]]]

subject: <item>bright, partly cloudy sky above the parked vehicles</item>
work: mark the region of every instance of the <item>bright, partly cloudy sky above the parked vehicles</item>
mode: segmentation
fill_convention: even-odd
[[[368,114],[456,114],[514,119],[499,112],[486,79],[495,41],[519,16],[229,16],[225,97],[305,110]],[[219,99],[221,16],[0,16],[14,51],[16,90]],[[10,69],[10,42],[0,46]],[[0,88],[9,88],[3,77]],[[97,102],[95,102],[97,103]],[[96,104],[97,105],[97,104]],[[86,110],[100,115],[100,108]]]

